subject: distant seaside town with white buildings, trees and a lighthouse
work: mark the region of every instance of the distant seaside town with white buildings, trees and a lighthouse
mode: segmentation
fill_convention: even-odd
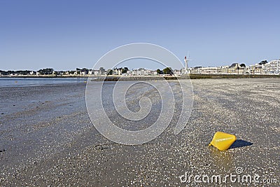
[[[172,69],[167,67],[165,69],[128,69],[127,67],[120,67],[115,69],[79,69],[71,71],[55,71],[52,68],[40,69],[38,71],[20,70],[20,71],[1,71],[0,76],[181,76],[183,74],[280,74],[280,60],[272,60],[267,62],[263,60],[257,64],[246,66],[244,63],[233,63],[228,66],[221,67],[188,67],[188,60],[185,57],[185,68]]]

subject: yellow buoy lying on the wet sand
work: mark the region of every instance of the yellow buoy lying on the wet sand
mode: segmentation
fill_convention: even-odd
[[[233,134],[225,132],[216,132],[209,146],[214,146],[220,151],[225,151],[235,142],[236,137]]]

